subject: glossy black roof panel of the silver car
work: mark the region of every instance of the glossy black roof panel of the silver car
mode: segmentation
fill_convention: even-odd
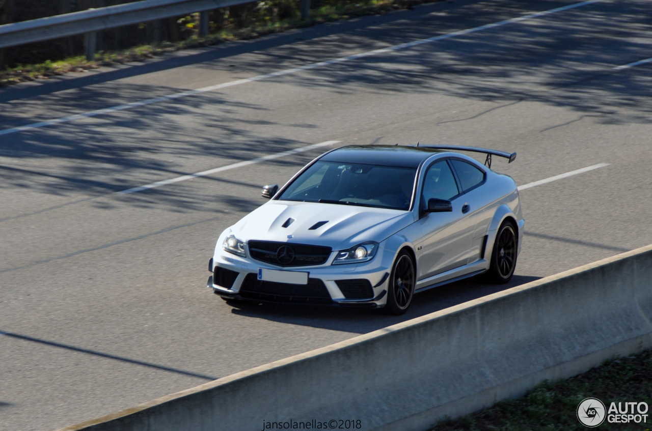
[[[399,145],[351,145],[331,151],[319,160],[368,165],[419,167],[421,161],[440,152],[432,148]]]

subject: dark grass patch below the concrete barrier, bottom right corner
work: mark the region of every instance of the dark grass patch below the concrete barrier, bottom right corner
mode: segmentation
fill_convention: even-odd
[[[608,361],[569,380],[545,382],[522,398],[437,424],[431,431],[557,431],[587,430],[576,409],[584,398],[598,398],[606,409],[612,402],[647,402],[652,407],[652,350]],[[649,431],[647,423],[608,423],[599,430]]]

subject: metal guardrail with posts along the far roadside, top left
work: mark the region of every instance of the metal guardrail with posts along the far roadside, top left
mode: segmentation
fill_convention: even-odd
[[[84,34],[86,57],[91,60],[95,58],[96,31],[200,12],[200,36],[206,36],[209,30],[209,10],[243,5],[251,1],[143,0],[5,24],[0,25],[0,48]],[[301,0],[301,18],[305,20],[309,14],[310,0]]]

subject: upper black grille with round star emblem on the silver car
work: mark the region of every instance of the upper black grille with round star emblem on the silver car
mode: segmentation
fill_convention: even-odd
[[[310,266],[326,263],[331,247],[273,241],[250,241],[249,255],[278,266]]]

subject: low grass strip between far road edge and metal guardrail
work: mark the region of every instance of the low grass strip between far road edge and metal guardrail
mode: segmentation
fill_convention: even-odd
[[[409,9],[422,3],[434,3],[441,0],[368,0],[361,3],[338,3],[325,5],[310,10],[309,20],[289,18],[285,20],[259,20],[247,27],[236,28],[227,24],[224,28],[206,37],[192,36],[181,42],[161,42],[136,46],[119,51],[100,51],[95,56],[95,61],[87,61],[83,55],[68,57],[60,61],[45,61],[39,64],[18,64],[13,68],[0,70],[0,87],[7,87],[25,81],[49,79],[53,76],[68,74],[70,72],[87,72],[100,66],[115,66],[151,59],[153,57],[188,48],[200,48],[220,44],[227,40],[248,40],[271,33],[280,33],[288,29],[309,27],[321,23],[347,20],[358,16],[380,15],[393,10]],[[14,48],[15,49],[15,48]]]

